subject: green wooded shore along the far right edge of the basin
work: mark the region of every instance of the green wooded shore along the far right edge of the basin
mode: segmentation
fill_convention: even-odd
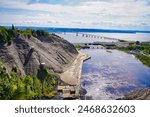
[[[130,43],[128,47],[116,47],[116,49],[132,53],[139,59],[144,65],[150,67],[150,42],[136,42]]]

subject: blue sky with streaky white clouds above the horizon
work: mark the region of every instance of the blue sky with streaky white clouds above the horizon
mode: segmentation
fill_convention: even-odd
[[[150,30],[150,0],[0,0],[0,25]]]

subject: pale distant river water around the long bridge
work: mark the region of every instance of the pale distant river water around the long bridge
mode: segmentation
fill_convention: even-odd
[[[91,37],[82,37],[82,33],[56,33],[57,35],[63,37],[71,43],[92,43],[97,41],[104,42],[114,42],[114,40],[103,39],[103,38],[91,38]],[[150,41],[150,33],[84,33],[97,36],[104,36],[109,38],[116,38],[128,41]]]

